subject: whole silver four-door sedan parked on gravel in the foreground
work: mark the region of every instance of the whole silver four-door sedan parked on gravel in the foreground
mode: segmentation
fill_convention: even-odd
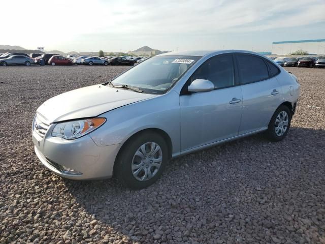
[[[282,140],[299,96],[294,75],[254,52],[164,53],[47,100],[32,140],[57,175],[140,189],[171,158],[259,132]]]

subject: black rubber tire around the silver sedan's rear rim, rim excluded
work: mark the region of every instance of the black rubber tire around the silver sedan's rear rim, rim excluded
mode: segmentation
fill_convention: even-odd
[[[283,135],[279,136],[276,134],[275,126],[276,126],[276,118],[281,112],[286,112],[286,114],[288,115],[288,125]],[[288,131],[290,129],[291,117],[292,117],[291,111],[287,106],[281,105],[280,107],[278,107],[277,110],[274,112],[270,120],[268,130],[266,131],[267,138],[271,141],[281,141],[288,134]]]

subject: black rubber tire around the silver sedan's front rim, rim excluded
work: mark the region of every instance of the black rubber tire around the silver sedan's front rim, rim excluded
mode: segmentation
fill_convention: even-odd
[[[158,171],[155,173],[155,175],[148,180],[140,181],[136,179],[136,177],[133,175],[132,168],[131,168],[132,160],[134,158],[136,151],[140,148],[140,146],[147,142],[154,142],[157,145],[159,145],[159,147],[161,148],[163,158],[160,167]],[[114,174],[117,177],[117,179],[127,188],[131,188],[131,189],[146,188],[152,185],[160,177],[161,173],[164,171],[168,163],[168,160],[169,160],[168,146],[165,139],[162,136],[154,132],[140,133],[135,138],[131,138],[129,141],[127,141],[119,151],[119,154],[116,158],[115,165],[114,165]]]

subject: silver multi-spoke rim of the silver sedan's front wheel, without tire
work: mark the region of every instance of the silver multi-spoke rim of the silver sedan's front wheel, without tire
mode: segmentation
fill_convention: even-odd
[[[151,179],[163,162],[163,151],[155,142],[146,142],[138,148],[132,159],[132,174],[139,181]]]

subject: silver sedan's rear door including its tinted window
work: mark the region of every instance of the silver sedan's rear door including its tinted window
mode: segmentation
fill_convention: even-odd
[[[279,106],[281,87],[276,79],[280,70],[268,60],[253,54],[236,54],[243,112],[239,135],[266,129]],[[272,70],[269,65],[272,65]]]

